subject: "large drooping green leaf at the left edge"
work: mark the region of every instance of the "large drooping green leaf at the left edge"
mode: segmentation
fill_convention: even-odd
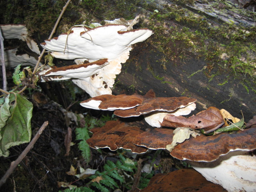
[[[11,116],[0,129],[0,156],[4,157],[9,156],[10,147],[30,142],[31,138],[33,104],[19,94],[10,94],[9,105]]]

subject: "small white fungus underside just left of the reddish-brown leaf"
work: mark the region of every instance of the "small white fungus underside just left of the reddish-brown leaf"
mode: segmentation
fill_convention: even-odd
[[[145,114],[144,119],[150,126],[160,127],[166,115],[168,114],[172,114],[175,116],[188,115],[191,113],[192,110],[195,110],[195,108],[196,108],[196,104],[192,103],[187,106],[181,106],[180,108],[171,112],[154,111],[149,114]]]

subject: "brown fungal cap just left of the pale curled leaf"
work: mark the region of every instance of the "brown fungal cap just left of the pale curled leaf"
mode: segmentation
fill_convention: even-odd
[[[166,145],[172,143],[173,131],[172,129],[155,128],[138,134],[133,139],[133,143],[148,149],[165,149]]]

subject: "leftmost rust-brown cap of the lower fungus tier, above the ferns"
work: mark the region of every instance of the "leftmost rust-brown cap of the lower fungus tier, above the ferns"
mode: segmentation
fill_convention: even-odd
[[[105,126],[92,128],[90,131],[93,136],[86,142],[92,148],[109,148],[112,151],[124,148],[133,153],[145,153],[148,150],[132,143],[133,138],[143,132],[137,126],[129,126],[124,122],[108,121]]]

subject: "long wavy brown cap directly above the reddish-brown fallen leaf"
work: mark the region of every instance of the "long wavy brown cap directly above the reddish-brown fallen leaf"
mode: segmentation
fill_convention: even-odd
[[[120,117],[140,116],[153,111],[174,111],[178,108],[187,106],[196,102],[196,99],[188,97],[158,97],[149,98],[143,101],[141,106],[128,110],[116,110],[115,115]]]

